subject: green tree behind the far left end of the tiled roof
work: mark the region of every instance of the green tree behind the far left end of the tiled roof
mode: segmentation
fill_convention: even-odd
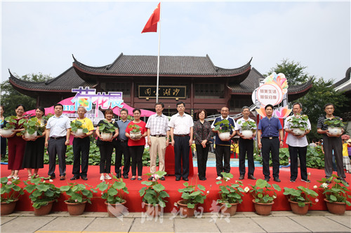
[[[28,82],[44,82],[48,79],[51,79],[51,76],[39,74],[26,74],[25,76],[20,77],[19,79],[25,80]],[[8,80],[4,81],[0,85],[1,87],[1,105],[4,106],[4,115],[15,115],[15,106],[18,104],[23,104],[25,110],[34,109],[37,106],[37,99],[28,97],[25,94],[21,94],[10,84]]]

